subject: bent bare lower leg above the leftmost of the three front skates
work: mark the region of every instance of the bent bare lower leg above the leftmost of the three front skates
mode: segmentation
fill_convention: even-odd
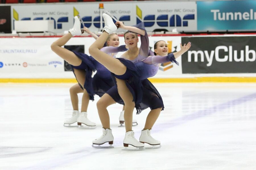
[[[113,98],[105,93],[97,102],[97,109],[100,116],[100,121],[104,129],[110,129],[110,118],[107,107],[115,104]]]

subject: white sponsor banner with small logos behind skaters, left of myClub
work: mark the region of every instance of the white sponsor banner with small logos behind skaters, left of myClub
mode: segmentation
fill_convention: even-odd
[[[2,38],[0,39],[0,78],[74,78],[74,75],[61,57],[51,50],[51,44],[58,38]],[[180,49],[181,37],[149,37],[150,48],[154,43],[166,41],[168,51]],[[63,48],[89,54],[88,49],[95,40],[92,37],[73,37]],[[120,45],[124,38],[119,37]],[[140,41],[138,43],[140,46]],[[117,54],[121,56],[123,52]],[[169,78],[182,74],[181,57],[175,63],[164,63],[155,78]]]

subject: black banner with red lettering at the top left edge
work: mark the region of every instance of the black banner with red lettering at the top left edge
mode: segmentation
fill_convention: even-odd
[[[0,6],[0,33],[11,32],[11,6]]]

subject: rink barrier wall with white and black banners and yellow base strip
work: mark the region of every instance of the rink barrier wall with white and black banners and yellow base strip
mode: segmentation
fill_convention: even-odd
[[[122,35],[119,35],[120,45],[124,44],[124,38]],[[239,41],[237,46],[234,46],[233,49],[240,48],[239,51],[247,51],[247,54],[250,55],[247,59],[248,61],[242,62],[233,62],[229,61],[230,57],[225,62],[217,62],[213,57],[211,67],[213,69],[207,71],[207,58],[206,55],[201,57],[198,55],[197,61],[195,57],[191,56],[191,61],[188,60],[187,54],[183,54],[181,57],[177,58],[177,61],[180,63],[177,66],[174,63],[165,63],[160,66],[158,73],[150,78],[152,82],[256,82],[256,61],[255,61],[255,51],[256,46],[253,42],[256,41],[255,34],[248,35],[200,35],[200,36],[162,36],[162,35],[150,35],[149,36],[149,46],[153,47],[154,43],[159,40],[166,41],[169,52],[175,52],[179,50],[179,44],[181,42],[187,42],[196,40],[192,43],[194,46],[203,52],[208,50],[207,54],[211,56],[211,51],[216,48],[216,46],[222,45],[223,42],[215,41],[214,44],[211,43],[212,39],[219,38],[228,39],[234,43]],[[233,38],[234,37],[234,38]],[[202,38],[206,40],[205,43],[199,43],[197,39]],[[231,39],[232,38],[232,39]],[[243,41],[241,41],[243,38]],[[71,69],[68,67],[69,64],[66,63],[62,58],[57,56],[54,52],[51,51],[50,45],[52,42],[56,41],[58,37],[20,37],[20,38],[0,38],[0,82],[46,82],[46,83],[63,83],[63,82],[76,82],[74,75]],[[250,39],[246,43],[247,39]],[[80,50],[85,54],[88,54],[88,48],[95,40],[92,37],[73,37],[67,42],[64,46],[65,48],[71,47],[80,47]],[[220,42],[220,44],[218,44]],[[221,44],[222,43],[222,44]],[[16,44],[20,44],[17,46]],[[206,45],[207,48],[204,46]],[[140,42],[138,43],[140,46]],[[231,45],[228,45],[231,46]],[[246,46],[249,46],[246,48]],[[195,47],[191,47],[191,50],[197,50]],[[209,49],[208,49],[209,47]],[[210,49],[212,48],[212,49]],[[228,47],[227,47],[228,48]],[[152,48],[151,48],[152,49]],[[247,49],[247,50],[246,50]],[[153,49],[152,49],[153,50]],[[222,59],[224,55],[231,56],[232,53],[225,52],[221,50],[222,53],[219,53],[220,57],[217,59]],[[189,52],[189,51],[188,51]],[[187,52],[187,53],[188,53]],[[191,53],[191,52],[190,52]],[[122,53],[119,53],[117,57],[121,56]],[[192,54],[192,53],[191,53]],[[199,53],[198,53],[199,54]],[[246,53],[245,53],[246,54]],[[239,58],[240,52],[238,52]],[[225,57],[226,58],[226,57]],[[232,57],[233,58],[233,57]],[[204,59],[202,62],[201,60]],[[246,59],[246,57],[245,57]],[[216,60],[216,61],[215,61]],[[223,60],[223,59],[222,59]],[[227,64],[225,64],[227,63]],[[243,67],[241,64],[243,64]],[[189,64],[189,65],[188,65]],[[221,65],[220,65],[221,64]],[[234,67],[234,65],[236,66]],[[238,64],[238,65],[237,65]],[[220,69],[225,68],[228,65],[229,69],[232,68],[229,72],[213,72],[220,71]],[[213,67],[214,66],[214,67]],[[187,67],[187,68],[183,68]],[[191,69],[187,71],[187,74],[184,74],[183,69]],[[204,68],[205,72],[192,72],[192,69]],[[233,72],[240,69],[240,72]],[[249,69],[249,71],[241,70],[242,68]],[[210,72],[212,71],[212,72]],[[248,73],[249,72],[249,73]]]

